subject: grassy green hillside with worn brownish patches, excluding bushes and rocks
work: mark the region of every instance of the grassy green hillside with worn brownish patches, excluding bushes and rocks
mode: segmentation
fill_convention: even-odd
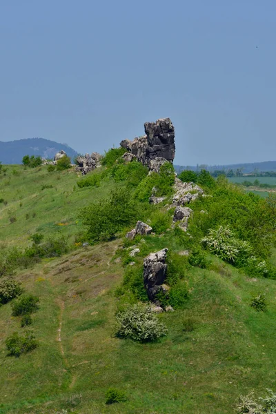
[[[6,176],[1,175],[0,198],[8,201],[0,204],[2,248],[29,246],[30,235],[42,233],[45,237],[64,235],[70,253],[16,269],[15,277],[26,292],[39,297],[39,310],[32,315],[31,326],[39,347],[18,358],[7,356],[6,338],[25,328],[20,328],[19,317],[12,316],[13,301],[1,306],[0,413],[221,414],[234,412],[241,393],[254,390],[263,395],[266,388],[276,390],[275,280],[256,277],[210,253],[204,253],[209,261],[206,268],[192,266],[179,255],[193,248],[197,234],[204,235],[212,220],[231,223],[233,208],[226,211],[224,199],[218,198],[222,197],[221,189],[212,193],[206,188],[213,197],[190,205],[195,210],[190,224],[193,239],[174,230],[158,231],[155,225],[155,235],[133,242],[141,250],[133,259],[133,268],[141,268],[148,253],[164,247],[173,253],[175,263],[183,258],[180,283],[189,290],[182,308],[159,315],[168,335],[141,344],[115,336],[118,306],[134,300],[128,292],[119,294],[130,269],[125,230],[109,242],[75,246],[75,235],[84,233],[79,210],[108,197],[112,188],[122,187],[126,181],[112,172],[99,186],[79,188],[78,179],[72,170],[48,172],[44,167],[24,170],[10,166]],[[132,193],[135,190],[137,186]],[[243,197],[249,203],[249,196],[241,192],[237,193],[237,205]],[[212,210],[216,200],[223,205],[221,219],[217,210]],[[257,203],[265,206],[265,201],[253,202],[258,214]],[[144,204],[136,202],[139,214],[144,214],[143,219],[150,217],[151,224],[158,221],[156,215],[159,223],[167,217],[164,204],[151,210],[145,204],[144,210],[139,210]],[[209,214],[203,216],[202,208]],[[11,222],[10,217],[16,221]],[[261,224],[262,216],[257,219]],[[252,226],[255,222],[256,218]],[[241,223],[244,221],[236,226]],[[242,235],[246,237],[246,232]],[[268,238],[266,243],[268,246]],[[267,261],[275,266],[275,250]],[[259,293],[266,296],[266,312],[249,306]],[[106,405],[105,393],[110,387],[124,391],[126,402]]]

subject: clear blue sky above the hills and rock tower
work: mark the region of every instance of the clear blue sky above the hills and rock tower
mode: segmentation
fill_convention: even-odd
[[[275,23],[275,0],[1,0],[0,141],[103,153],[170,117],[175,164],[275,160]]]

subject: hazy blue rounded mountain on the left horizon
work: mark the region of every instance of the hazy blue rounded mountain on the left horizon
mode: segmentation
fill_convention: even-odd
[[[18,141],[0,141],[0,161],[2,164],[21,164],[24,155],[53,158],[59,150],[64,150],[71,158],[77,155],[77,152],[67,144],[59,144],[50,139],[29,138]]]

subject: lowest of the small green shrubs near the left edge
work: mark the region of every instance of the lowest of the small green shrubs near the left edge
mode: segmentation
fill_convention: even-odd
[[[13,355],[14,357],[20,357],[21,354],[28,353],[37,348],[37,346],[38,342],[30,332],[25,333],[25,335],[19,335],[17,332],[14,332],[6,339],[8,355]]]

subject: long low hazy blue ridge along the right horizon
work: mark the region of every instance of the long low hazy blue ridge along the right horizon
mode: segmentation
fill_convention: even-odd
[[[177,172],[181,172],[182,170],[201,170],[205,169],[210,172],[215,170],[237,170],[237,168],[242,168],[242,172],[244,174],[249,174],[250,172],[254,172],[258,170],[259,172],[265,171],[276,171],[276,161],[263,161],[263,162],[252,162],[252,163],[244,163],[244,164],[228,164],[228,165],[217,165],[217,166],[207,166],[207,165],[200,165],[200,166],[177,166],[175,165],[175,170]]]

